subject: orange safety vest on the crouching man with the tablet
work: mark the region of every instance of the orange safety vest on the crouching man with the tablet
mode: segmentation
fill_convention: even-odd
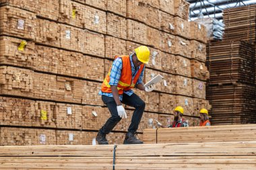
[[[144,64],[140,65],[139,71],[137,71],[137,74],[132,80],[130,56],[115,56],[115,59],[119,57],[122,59],[122,72],[121,72],[121,77],[119,79],[119,83],[117,84],[117,90],[119,95],[121,95],[123,94],[123,91],[129,91],[129,89],[132,89],[133,87],[135,87],[135,84],[139,79],[139,75],[143,71]],[[112,67],[110,68],[110,71],[111,69]],[[101,85],[101,91],[103,93],[112,93],[109,85],[110,71],[108,71],[108,75],[106,75]]]

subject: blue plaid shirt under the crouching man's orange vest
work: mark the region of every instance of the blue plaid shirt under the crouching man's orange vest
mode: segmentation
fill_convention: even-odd
[[[133,60],[132,60],[132,55],[130,55],[130,61],[131,61],[131,74],[132,74],[132,79],[134,79],[135,75],[137,74],[137,72],[140,69],[140,66],[137,67],[137,69],[135,69],[134,65],[133,65]],[[110,81],[109,81],[109,85],[117,85],[119,82],[119,79],[121,77],[121,71],[122,71],[122,59],[121,58],[117,58],[114,60],[113,65],[112,65],[112,69],[110,71]],[[141,72],[141,75],[139,75],[139,79],[137,80],[137,84],[142,84],[142,79],[143,79],[143,73],[145,70],[145,65],[144,68]],[[124,91],[125,94],[131,96],[134,92],[133,90],[129,90],[129,91]],[[98,93],[99,95],[106,95],[108,97],[113,97],[112,93],[103,93],[102,91],[100,91]],[[123,95],[119,95],[119,99],[122,100],[123,99]]]

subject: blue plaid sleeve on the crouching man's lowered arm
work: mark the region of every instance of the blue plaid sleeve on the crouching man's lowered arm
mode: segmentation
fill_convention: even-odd
[[[119,79],[121,77],[121,71],[122,71],[122,59],[117,58],[114,60],[112,69],[110,71],[110,81],[109,85],[117,85],[119,82]]]

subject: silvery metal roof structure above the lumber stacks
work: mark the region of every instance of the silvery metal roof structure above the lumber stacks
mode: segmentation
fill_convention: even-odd
[[[256,0],[187,0],[190,3],[189,18],[214,17],[222,21],[222,11],[226,8],[256,4]]]

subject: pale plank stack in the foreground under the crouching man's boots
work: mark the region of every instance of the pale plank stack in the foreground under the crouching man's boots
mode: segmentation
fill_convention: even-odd
[[[135,146],[1,146],[0,168],[255,169],[255,146],[255,142],[137,144]],[[42,163],[42,160],[45,162]],[[36,166],[32,166],[31,163]]]

